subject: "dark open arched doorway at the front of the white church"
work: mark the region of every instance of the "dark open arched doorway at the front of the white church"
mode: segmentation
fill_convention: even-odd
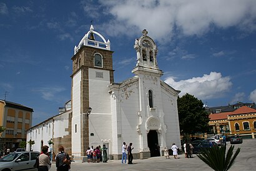
[[[147,146],[150,150],[150,157],[160,156],[158,134],[156,130],[149,130],[147,134]]]

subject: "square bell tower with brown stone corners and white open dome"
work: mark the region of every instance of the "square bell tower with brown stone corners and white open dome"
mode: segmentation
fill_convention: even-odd
[[[74,47],[72,59],[72,152],[85,152],[90,144],[89,123],[94,115],[108,113],[107,85],[114,82],[111,42],[90,30]],[[99,107],[102,106],[102,107]],[[92,112],[89,112],[91,107]]]

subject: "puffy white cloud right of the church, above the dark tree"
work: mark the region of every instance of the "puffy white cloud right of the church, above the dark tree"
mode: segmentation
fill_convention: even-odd
[[[189,93],[202,100],[222,97],[232,87],[230,77],[222,77],[219,72],[210,72],[209,75],[204,74],[202,77],[177,82],[169,77],[165,82],[174,89],[181,90],[180,96]]]

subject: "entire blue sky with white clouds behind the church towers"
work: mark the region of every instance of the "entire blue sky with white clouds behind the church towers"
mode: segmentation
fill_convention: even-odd
[[[136,38],[157,44],[161,77],[215,107],[256,101],[256,1],[0,1],[0,99],[34,110],[32,125],[71,99],[74,46],[111,41],[114,82],[133,77]],[[92,109],[93,110],[93,109]]]

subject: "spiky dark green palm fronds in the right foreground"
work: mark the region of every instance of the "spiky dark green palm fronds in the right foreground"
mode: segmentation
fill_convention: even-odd
[[[205,164],[209,165],[215,171],[226,171],[234,164],[235,158],[240,152],[238,148],[233,155],[234,145],[229,147],[226,154],[225,145],[222,147],[212,147],[209,149],[202,150],[201,154],[197,155]],[[232,157],[233,155],[233,157]]]

